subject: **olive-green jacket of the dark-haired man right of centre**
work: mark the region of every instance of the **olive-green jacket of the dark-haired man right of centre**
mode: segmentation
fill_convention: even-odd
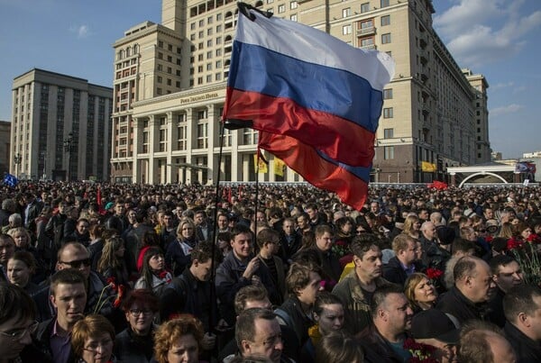
[[[389,285],[392,284],[383,277],[376,279],[376,288]],[[371,296],[366,296],[362,290],[355,269],[335,286],[333,294],[340,297],[344,303],[345,328],[353,335],[371,323]]]

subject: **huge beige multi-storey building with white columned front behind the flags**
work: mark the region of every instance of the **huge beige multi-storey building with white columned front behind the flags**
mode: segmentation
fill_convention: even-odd
[[[432,28],[432,1],[252,5],[396,60],[384,91],[373,181],[447,180],[448,167],[490,160],[488,83],[463,71],[445,48]],[[141,23],[115,42],[113,181],[211,184],[218,170],[223,181],[255,180],[257,132],[225,131],[219,138],[236,3],[162,0],[161,18],[161,24]],[[260,180],[302,180],[289,168],[275,173],[267,156],[270,166]]]

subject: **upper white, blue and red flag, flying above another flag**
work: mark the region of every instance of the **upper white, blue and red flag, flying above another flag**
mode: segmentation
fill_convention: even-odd
[[[237,23],[224,119],[370,167],[394,61],[307,25],[250,14],[254,21],[241,13]]]

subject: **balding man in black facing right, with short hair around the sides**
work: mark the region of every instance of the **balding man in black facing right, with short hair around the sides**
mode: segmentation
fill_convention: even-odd
[[[454,286],[442,295],[436,308],[462,325],[470,320],[487,320],[488,302],[496,283],[489,264],[475,257],[463,257],[454,265]]]

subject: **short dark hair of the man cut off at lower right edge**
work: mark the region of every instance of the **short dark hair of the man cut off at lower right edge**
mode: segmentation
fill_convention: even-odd
[[[521,285],[511,287],[503,297],[503,313],[509,322],[516,322],[519,313],[528,316],[536,313],[537,304],[534,297],[541,296],[538,286]]]

